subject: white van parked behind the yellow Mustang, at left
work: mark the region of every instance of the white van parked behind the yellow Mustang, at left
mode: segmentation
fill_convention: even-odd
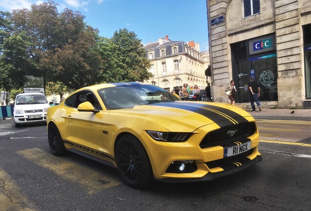
[[[46,123],[49,104],[42,93],[18,94],[14,104],[14,126],[21,124]]]

